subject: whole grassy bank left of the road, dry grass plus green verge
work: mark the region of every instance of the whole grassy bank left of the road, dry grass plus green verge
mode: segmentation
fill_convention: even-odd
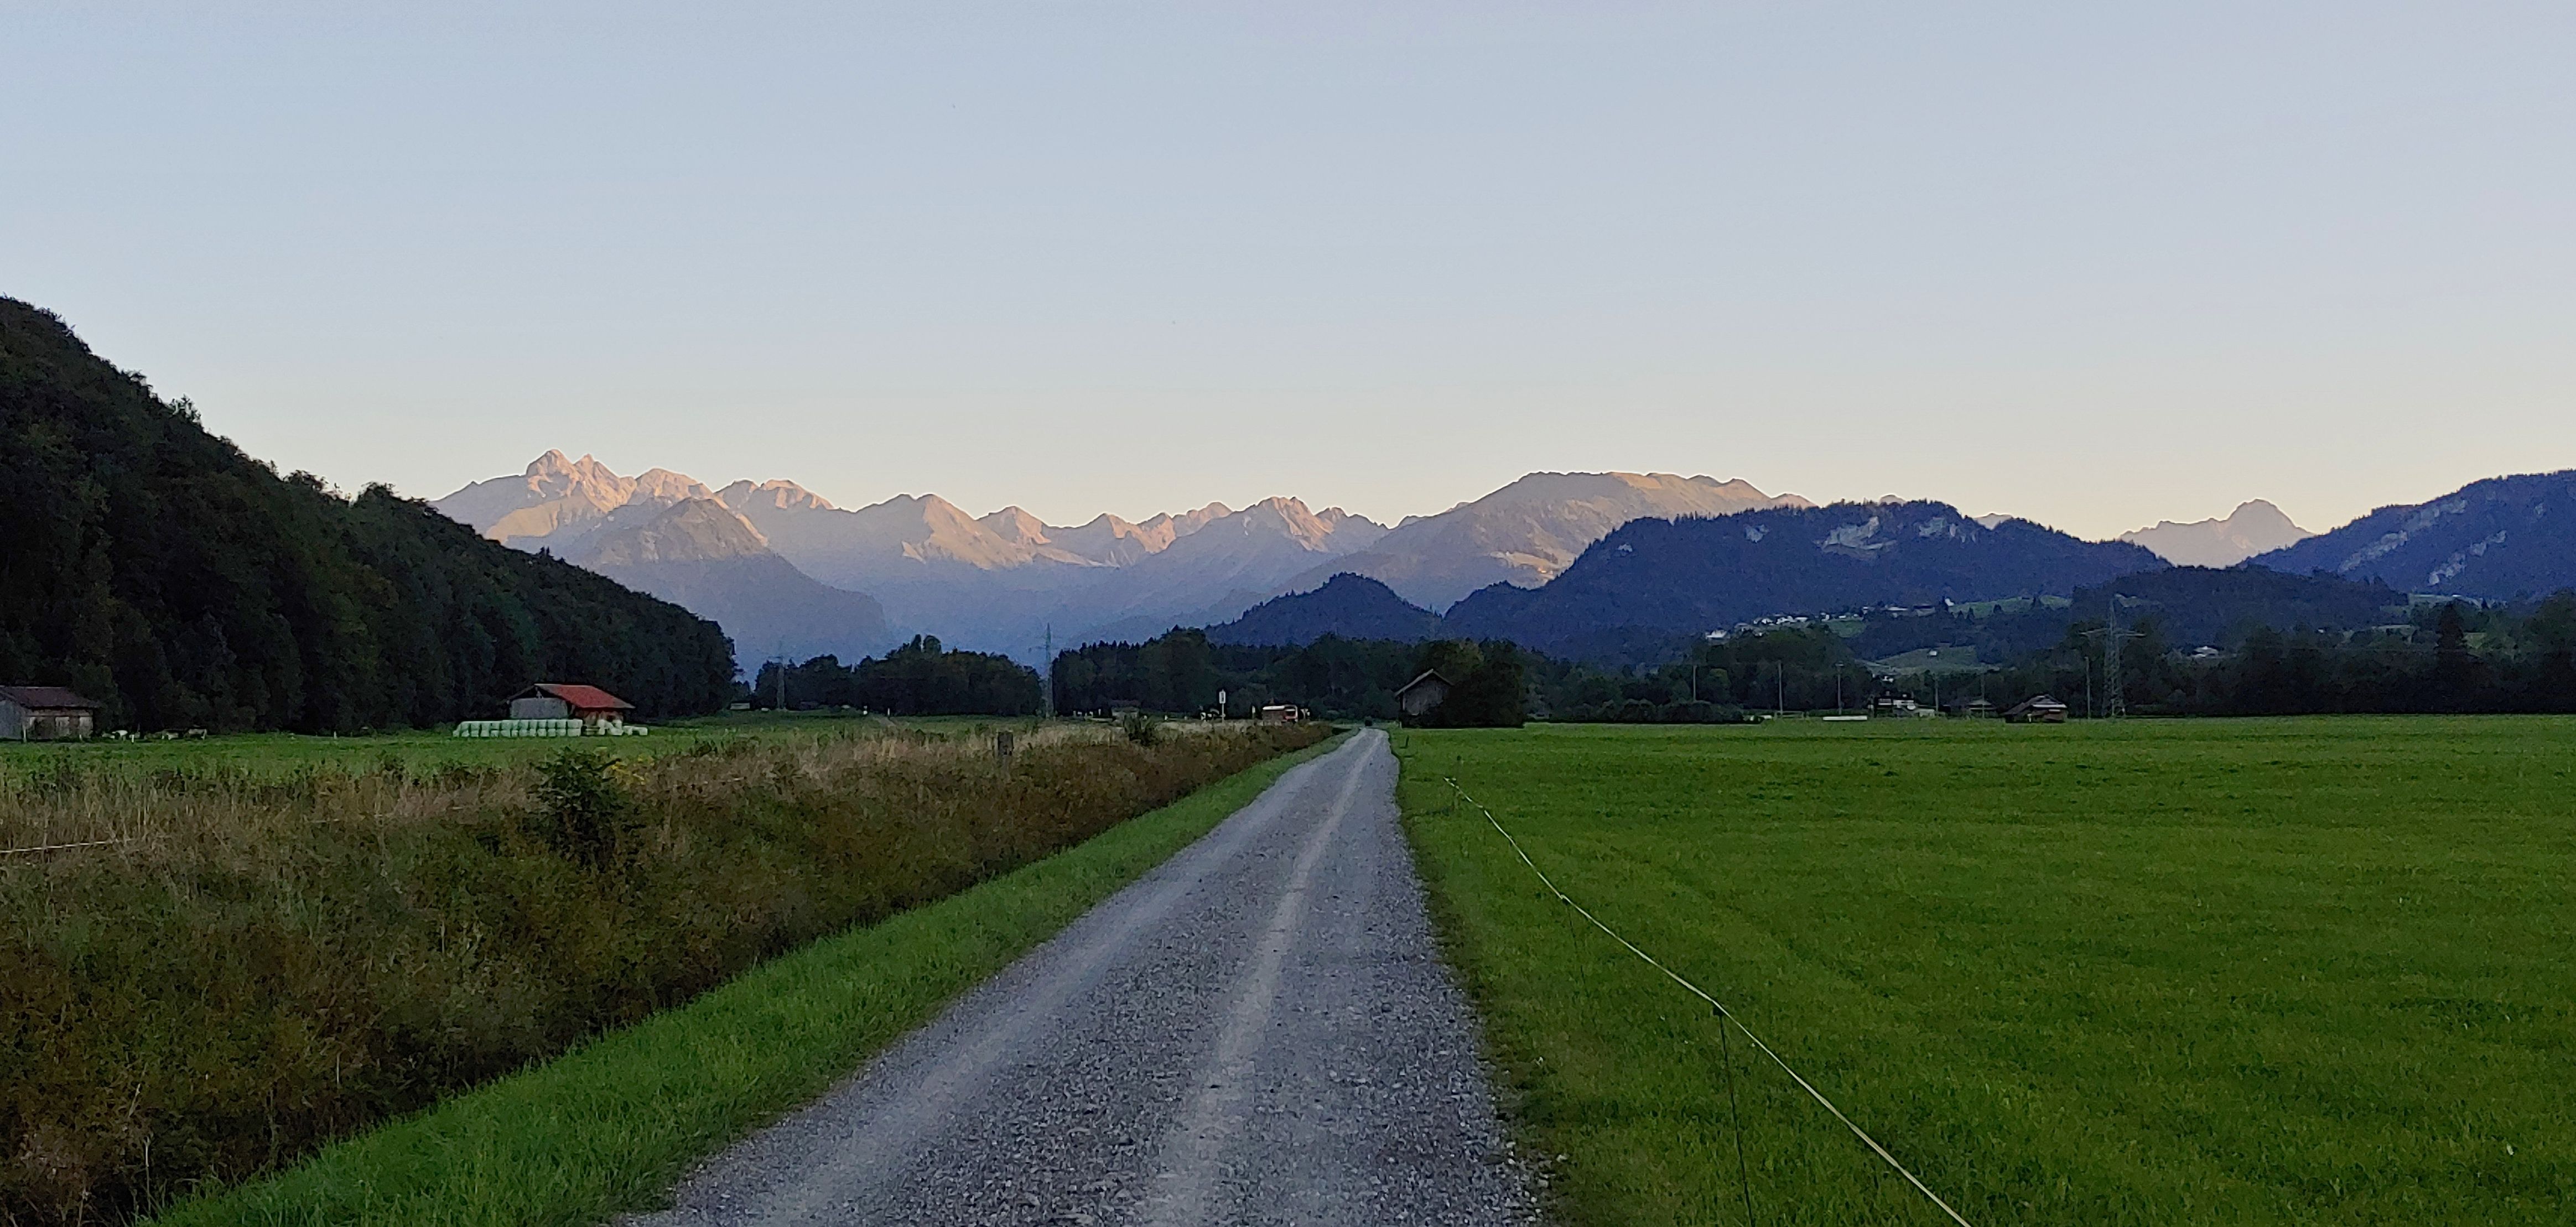
[[[1314,737],[1054,742],[1002,763],[981,740],[878,735],[440,778],[0,781],[21,812],[59,809],[57,830],[152,815],[142,843],[0,864],[0,1222],[111,1219],[240,1181],[698,998],[572,1072],[523,1072],[183,1219],[580,1222],[631,1204]],[[917,910],[933,900],[951,905]]]

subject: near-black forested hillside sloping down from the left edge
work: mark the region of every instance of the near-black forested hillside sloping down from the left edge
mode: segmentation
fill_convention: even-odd
[[[500,714],[531,681],[708,711],[724,634],[384,487],[278,477],[0,299],[0,683],[100,727],[355,729]]]

